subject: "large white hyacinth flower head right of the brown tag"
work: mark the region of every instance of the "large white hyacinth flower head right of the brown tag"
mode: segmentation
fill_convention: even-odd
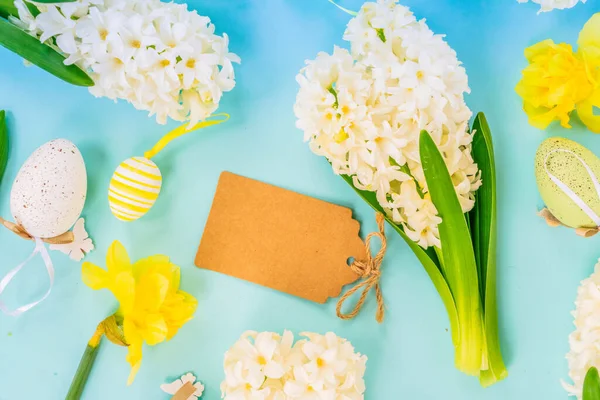
[[[297,77],[297,127],[336,174],[376,192],[379,204],[422,247],[440,246],[441,219],[419,157],[419,135],[438,145],[464,212],[481,184],[471,156],[467,75],[456,53],[395,0],[365,3],[335,48]]]

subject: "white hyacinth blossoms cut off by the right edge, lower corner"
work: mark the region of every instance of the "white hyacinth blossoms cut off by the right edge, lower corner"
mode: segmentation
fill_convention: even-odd
[[[575,311],[572,312],[575,331],[569,335],[571,350],[567,354],[572,385],[565,389],[581,400],[585,375],[591,367],[600,369],[600,260],[594,273],[581,281],[577,290]]]

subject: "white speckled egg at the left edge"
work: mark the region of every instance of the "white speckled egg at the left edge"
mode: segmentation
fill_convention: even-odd
[[[77,146],[52,140],[25,161],[10,193],[15,222],[32,236],[52,238],[67,232],[83,211],[87,176]]]

